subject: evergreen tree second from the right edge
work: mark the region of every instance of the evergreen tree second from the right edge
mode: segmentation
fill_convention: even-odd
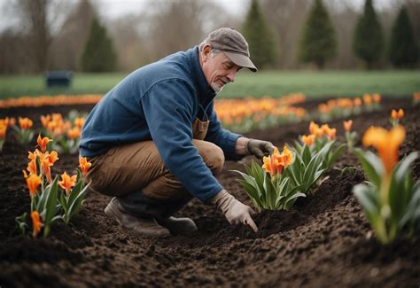
[[[364,13],[357,20],[353,50],[354,54],[366,63],[368,69],[381,58],[384,51],[382,27],[373,9],[372,0],[366,0]]]

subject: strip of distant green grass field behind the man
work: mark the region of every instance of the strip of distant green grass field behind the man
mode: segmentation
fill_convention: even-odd
[[[0,98],[23,95],[105,94],[127,74],[74,74],[72,87],[47,90],[43,75],[0,75]],[[279,97],[302,92],[307,97],[354,97],[363,93],[411,96],[420,91],[420,70],[415,71],[241,71],[219,97]]]

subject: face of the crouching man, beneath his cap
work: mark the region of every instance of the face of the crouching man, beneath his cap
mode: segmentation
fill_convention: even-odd
[[[210,51],[209,46],[202,51],[203,72],[207,83],[216,93],[219,93],[225,84],[235,81],[235,76],[242,67],[230,61],[222,51],[218,53]]]

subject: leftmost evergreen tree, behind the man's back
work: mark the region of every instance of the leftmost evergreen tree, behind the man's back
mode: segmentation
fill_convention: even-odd
[[[95,18],[90,26],[88,41],[82,54],[82,70],[86,72],[108,72],[115,70],[116,56],[113,42],[106,35],[105,27]]]

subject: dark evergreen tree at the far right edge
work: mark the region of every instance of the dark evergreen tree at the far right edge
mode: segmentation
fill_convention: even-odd
[[[393,23],[389,59],[393,66],[415,66],[419,50],[413,36],[413,28],[408,17],[407,8],[401,7],[397,19]]]

